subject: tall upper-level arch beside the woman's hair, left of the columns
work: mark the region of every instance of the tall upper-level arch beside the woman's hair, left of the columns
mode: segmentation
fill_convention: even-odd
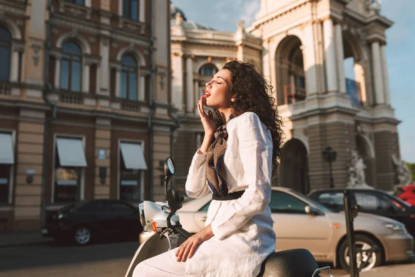
[[[288,35],[275,51],[275,78],[278,105],[290,104],[306,98],[306,73],[302,41]]]

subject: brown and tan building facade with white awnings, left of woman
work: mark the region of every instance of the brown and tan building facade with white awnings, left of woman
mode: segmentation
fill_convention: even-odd
[[[0,231],[163,196],[169,24],[167,0],[0,1]]]

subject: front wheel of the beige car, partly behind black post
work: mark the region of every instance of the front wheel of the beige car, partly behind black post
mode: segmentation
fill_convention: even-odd
[[[366,265],[362,267],[361,271],[368,271],[374,267],[378,267],[382,265],[382,246],[378,245],[378,242],[375,242],[367,235],[355,235],[355,242],[356,242],[356,263],[358,268],[365,262]],[[376,253],[367,253],[365,250],[369,250],[371,248],[377,248],[378,251]],[[362,253],[359,253],[362,250]],[[350,258],[349,258],[349,242],[347,240],[343,240],[342,244],[340,245],[338,251],[339,262],[342,268],[350,272]]]

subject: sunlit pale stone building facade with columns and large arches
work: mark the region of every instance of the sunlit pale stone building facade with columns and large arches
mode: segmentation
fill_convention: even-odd
[[[236,33],[185,22],[183,12],[172,9],[180,184],[203,135],[194,112],[200,88],[229,59],[258,65],[275,89],[286,137],[273,186],[301,193],[329,187],[329,163],[322,157],[327,147],[337,152],[335,187],[347,186],[352,150],[365,161],[369,185],[390,190],[396,184],[399,120],[390,105],[385,57],[385,30],[393,23],[380,15],[380,1],[261,0],[255,21],[246,30],[239,24]],[[353,60],[353,79],[344,76],[347,59]]]

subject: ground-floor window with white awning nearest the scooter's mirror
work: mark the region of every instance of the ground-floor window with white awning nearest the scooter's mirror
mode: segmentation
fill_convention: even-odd
[[[141,177],[147,170],[144,153],[140,143],[120,143],[120,199],[142,201]]]

